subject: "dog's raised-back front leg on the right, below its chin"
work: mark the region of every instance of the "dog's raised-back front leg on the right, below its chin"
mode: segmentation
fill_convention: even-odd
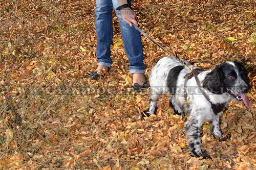
[[[220,131],[220,116],[222,115],[222,112],[215,115],[214,119],[212,119],[212,125],[210,133],[211,135],[218,136],[219,141],[225,141],[227,139],[230,139],[231,134],[227,134],[227,136],[222,137],[222,133]]]

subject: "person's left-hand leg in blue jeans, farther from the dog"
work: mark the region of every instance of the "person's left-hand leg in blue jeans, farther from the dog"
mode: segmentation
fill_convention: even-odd
[[[110,68],[112,64],[110,46],[113,37],[112,26],[113,4],[110,0],[96,0],[96,34],[97,34],[97,51],[98,68]]]

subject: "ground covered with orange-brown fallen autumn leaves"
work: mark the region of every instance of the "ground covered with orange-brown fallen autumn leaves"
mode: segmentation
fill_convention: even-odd
[[[0,2],[0,169],[255,169],[255,1],[133,1],[140,28],[169,51],[204,69],[241,61],[249,71],[252,108],[231,102],[218,142],[202,128],[191,157],[182,117],[158,102],[143,119],[148,91],[131,89],[129,63],[113,13],[110,74],[99,81],[95,1]],[[166,56],[142,37],[146,76]]]

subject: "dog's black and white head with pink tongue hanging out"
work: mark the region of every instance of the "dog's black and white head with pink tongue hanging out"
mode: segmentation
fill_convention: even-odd
[[[236,101],[243,101],[249,108],[245,96],[249,90],[249,78],[246,68],[237,61],[224,62],[209,72],[203,81],[203,87],[214,94],[228,94]]]

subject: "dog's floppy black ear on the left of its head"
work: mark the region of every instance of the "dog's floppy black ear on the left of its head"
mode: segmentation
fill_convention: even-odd
[[[215,69],[209,72],[203,81],[203,88],[214,94],[223,93],[223,71],[222,66],[217,65]]]

